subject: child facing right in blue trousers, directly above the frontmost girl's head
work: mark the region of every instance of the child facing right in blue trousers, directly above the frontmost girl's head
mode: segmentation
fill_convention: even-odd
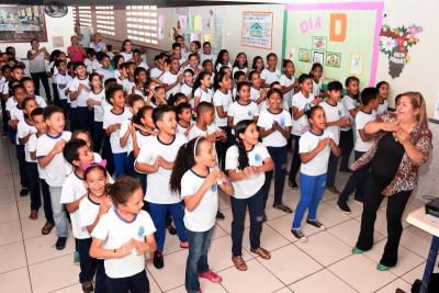
[[[125,95],[121,86],[109,88],[106,101],[113,109],[103,114],[102,128],[110,136],[111,150],[114,158],[115,177],[119,178],[125,173],[126,147],[121,146],[121,123],[131,119],[132,113],[125,108]]]

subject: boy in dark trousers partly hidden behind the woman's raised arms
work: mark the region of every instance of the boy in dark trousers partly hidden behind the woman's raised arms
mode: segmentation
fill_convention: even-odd
[[[356,115],[356,147],[353,151],[354,160],[361,158],[372,146],[374,135],[364,132],[364,125],[375,120],[375,111],[381,102],[379,90],[376,88],[365,88],[361,92],[361,108]],[[369,178],[369,166],[354,171],[341,191],[337,205],[347,214],[350,214],[348,205],[349,195],[356,191],[354,199],[359,202],[363,201],[365,185]]]

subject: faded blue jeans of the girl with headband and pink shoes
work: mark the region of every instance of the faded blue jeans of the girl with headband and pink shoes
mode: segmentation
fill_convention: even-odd
[[[189,255],[185,262],[185,290],[196,293],[200,290],[198,274],[209,270],[207,250],[211,246],[212,234],[215,226],[206,232],[192,232],[187,229],[189,238]]]

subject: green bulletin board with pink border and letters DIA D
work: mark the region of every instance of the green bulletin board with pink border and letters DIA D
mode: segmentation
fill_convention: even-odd
[[[374,86],[383,2],[285,4],[282,55],[296,74],[313,63],[324,67],[323,83],[349,76]]]

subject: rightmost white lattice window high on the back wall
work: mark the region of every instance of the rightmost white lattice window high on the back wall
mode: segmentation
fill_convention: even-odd
[[[135,43],[157,44],[157,7],[127,5],[126,35]]]

